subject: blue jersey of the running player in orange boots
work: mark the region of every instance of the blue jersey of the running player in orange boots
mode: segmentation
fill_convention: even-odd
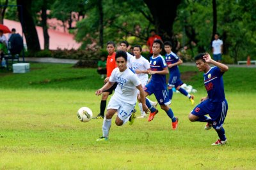
[[[150,69],[152,71],[162,71],[166,66],[166,62],[161,55],[157,57],[150,57]],[[166,76],[165,74],[152,74],[150,82],[154,84],[154,89],[163,90],[166,89]]]

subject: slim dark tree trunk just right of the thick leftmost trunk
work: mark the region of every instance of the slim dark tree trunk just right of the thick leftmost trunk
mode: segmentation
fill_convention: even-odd
[[[44,0],[42,6],[42,27],[44,32],[44,49],[49,50],[49,34],[48,34],[48,27],[47,27],[47,1]]]

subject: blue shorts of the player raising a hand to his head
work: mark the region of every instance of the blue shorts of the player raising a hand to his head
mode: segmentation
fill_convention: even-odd
[[[209,100],[203,101],[198,104],[191,114],[201,117],[209,115],[212,118],[212,127],[214,129],[220,129],[224,123],[228,111],[228,103],[225,99],[223,102],[211,102]]]

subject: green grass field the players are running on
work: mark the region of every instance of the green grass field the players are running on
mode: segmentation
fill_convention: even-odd
[[[189,122],[193,106],[181,94],[172,102],[177,131],[160,111],[152,122],[136,119],[117,127],[113,121],[109,141],[97,142],[102,120],[82,123],[76,117],[81,106],[99,112],[94,92],[102,80],[95,69],[31,64],[26,74],[0,73],[0,169],[255,169],[255,70],[230,67],[225,74],[225,146],[211,146],[216,132]],[[198,90],[199,103],[205,96],[202,74],[186,83]]]

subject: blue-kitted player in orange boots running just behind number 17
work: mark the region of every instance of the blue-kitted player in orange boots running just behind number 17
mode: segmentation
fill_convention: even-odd
[[[179,119],[174,117],[172,109],[168,106],[170,99],[168,97],[166,87],[166,74],[169,73],[164,58],[160,55],[163,48],[163,42],[160,39],[156,39],[152,46],[153,56],[150,57],[150,71],[151,74],[148,84],[145,85],[145,97],[154,94],[156,99],[161,106],[161,109],[166,111],[168,117],[172,119],[172,129],[175,130],[178,127]],[[153,120],[154,116],[158,113],[158,110],[150,104],[146,98],[146,104],[150,110],[148,122]]]

